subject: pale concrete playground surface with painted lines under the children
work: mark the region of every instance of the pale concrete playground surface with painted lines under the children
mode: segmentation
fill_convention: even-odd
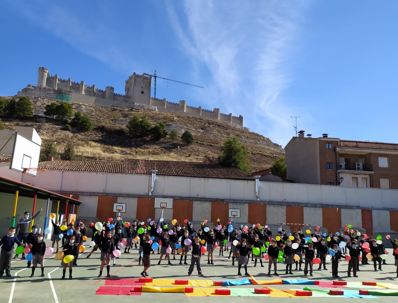
[[[49,241],[46,242],[48,246],[51,246]],[[112,265],[111,261],[111,278],[106,278],[106,266],[104,267],[102,278],[97,278],[99,274],[100,267],[100,253],[94,252],[92,256],[87,259],[86,256],[91,251],[89,248],[89,244],[86,245],[86,251],[80,253],[77,264],[78,266],[73,267],[73,279],[69,280],[69,270],[66,270],[66,279],[61,280],[62,276],[62,268],[60,267],[60,260],[55,260],[55,254],[51,254],[46,256],[45,260],[45,277],[41,277],[41,270],[37,268],[35,270],[35,277],[29,278],[31,275],[31,268],[27,268],[26,260],[22,259],[13,259],[12,260],[12,268],[11,274],[12,277],[8,278],[5,275],[0,278],[0,302],[23,302],[27,298],[29,301],[32,299],[34,301],[40,301],[41,303],[47,302],[70,302],[70,300],[75,301],[84,300],[86,302],[93,302],[94,300],[104,301],[104,300],[130,300],[133,299],[129,297],[129,295],[96,295],[96,291],[98,289],[105,289],[106,287],[120,287],[121,285],[131,285],[129,283],[119,283],[120,281],[133,281],[131,279],[138,279],[140,277],[140,272],[142,272],[143,267],[138,265],[138,249],[131,249],[130,254],[121,254],[119,259],[116,259],[117,265]],[[122,250],[122,252],[124,249]],[[285,274],[285,264],[278,263],[278,274],[279,277],[275,276],[267,276],[268,271],[268,263],[263,262],[265,267],[261,267],[259,262],[257,266],[254,267],[254,262],[249,262],[248,272],[252,274],[256,280],[273,280],[275,278],[280,279],[303,279],[303,280],[316,280],[319,281],[320,285],[289,285],[289,284],[276,284],[276,285],[240,285],[240,286],[230,286],[230,289],[233,288],[245,288],[246,291],[253,291],[254,288],[259,287],[271,287],[275,289],[274,293],[277,293],[277,290],[297,290],[304,289],[304,287],[309,287],[310,289],[322,289],[324,291],[332,290],[343,290],[343,291],[354,291],[359,289],[365,289],[371,291],[372,289],[377,291],[394,291],[398,292],[398,279],[396,278],[396,266],[394,266],[394,257],[392,256],[392,249],[388,249],[389,254],[387,255],[386,262],[388,265],[382,266],[382,271],[374,271],[373,262],[371,265],[361,265],[358,274],[358,278],[347,277],[347,261],[341,261],[339,263],[339,276],[341,277],[339,281],[348,282],[347,286],[339,288],[333,287],[333,281],[337,281],[338,279],[332,278],[331,273],[331,264],[328,262],[327,270],[317,270],[318,264],[314,264],[314,276],[308,277],[304,276],[303,271],[295,270],[295,265],[293,265],[293,275]],[[160,265],[157,265],[159,255],[152,254],[151,256],[151,264],[152,266],[148,269],[148,274],[155,279],[166,279],[163,280],[171,281],[174,279],[181,280],[198,280],[199,282],[206,282],[204,280],[242,280],[242,279],[250,279],[247,276],[237,276],[238,266],[232,266],[232,257],[228,259],[229,252],[224,252],[224,256],[219,256],[219,251],[216,249],[214,253],[213,262],[215,265],[207,265],[207,256],[202,256],[201,258],[201,267],[202,272],[204,274],[203,277],[197,275],[196,268],[194,268],[194,272],[191,277],[187,276],[187,271],[189,265],[179,265],[179,255],[176,255],[176,260],[171,260],[172,265],[168,265],[167,260],[162,260]],[[187,263],[190,264],[191,256],[188,254]],[[237,262],[235,263],[237,264]],[[304,264],[302,264],[302,269],[304,268]],[[271,271],[272,272],[272,271]],[[244,269],[242,268],[242,274],[244,274]],[[351,275],[353,273],[351,272]],[[129,279],[129,280],[123,280]],[[109,281],[113,280],[113,281]],[[376,282],[378,285],[388,286],[390,288],[384,288],[381,286],[362,286],[361,282]],[[195,283],[195,281],[194,281]],[[134,284],[134,282],[133,282]],[[167,284],[167,283],[166,283]],[[144,284],[145,285],[145,284]],[[148,284],[146,284],[148,285]],[[152,285],[152,284],[150,284]],[[154,286],[172,286],[165,284],[155,285]],[[330,286],[330,287],[329,287]],[[133,286],[130,286],[133,287]],[[212,286],[206,286],[209,289]],[[333,287],[333,288],[332,288]],[[193,288],[196,288],[195,286]],[[226,288],[222,286],[216,286],[213,288]],[[113,289],[113,288],[112,288]],[[243,289],[241,289],[243,290]],[[339,296],[333,296],[328,294],[316,293],[313,291],[312,297],[306,297],[305,299],[308,301],[322,300],[322,301],[330,301],[340,299]],[[133,293],[131,293],[133,295]],[[286,300],[286,297],[281,295],[280,297],[269,297],[268,295],[263,295],[267,297],[267,300],[272,300],[275,302],[282,302]],[[231,296],[226,295],[226,299],[222,298],[222,301],[234,301],[234,302],[254,302],[258,301],[260,298],[248,295],[248,296]],[[377,298],[375,298],[377,297]],[[364,298],[352,298],[351,300],[361,300],[366,302],[396,302],[396,298],[394,296],[381,296],[375,295],[375,297],[364,297]],[[302,297],[287,297],[287,300],[298,300],[298,298]],[[187,296],[184,293],[154,293],[154,292],[144,292],[140,293],[137,298],[139,300],[151,300],[151,301],[162,301],[162,302],[175,302],[179,301],[197,301],[199,298],[197,296]],[[220,301],[219,297],[206,297],[206,300],[211,300],[212,302]]]

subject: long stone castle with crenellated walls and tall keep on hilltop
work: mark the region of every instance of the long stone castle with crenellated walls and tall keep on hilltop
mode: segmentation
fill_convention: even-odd
[[[169,102],[166,99],[151,97],[152,76],[136,74],[135,72],[126,80],[125,95],[114,93],[112,86],[105,90],[96,88],[96,85],[86,85],[84,81],[72,82],[61,79],[57,74],[51,76],[47,68],[39,67],[37,85],[28,85],[21,91],[20,96],[41,96],[49,99],[58,99],[75,103],[97,105],[101,107],[139,107],[153,111],[168,111],[217,120],[238,128],[248,130],[243,126],[243,117],[232,116],[232,113],[220,113],[219,108],[202,109],[201,106],[193,107],[187,105],[185,100],[178,103]]]

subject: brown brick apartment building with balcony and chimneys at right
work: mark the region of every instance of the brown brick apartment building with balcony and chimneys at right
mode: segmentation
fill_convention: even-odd
[[[304,137],[300,130],[285,157],[287,179],[296,183],[398,189],[398,144]]]

